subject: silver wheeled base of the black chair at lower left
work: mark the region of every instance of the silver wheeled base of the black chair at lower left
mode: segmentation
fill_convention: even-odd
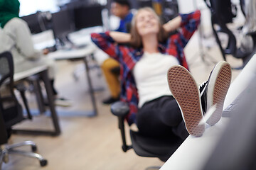
[[[16,147],[22,147],[22,146],[31,146],[32,152],[17,150]],[[9,162],[9,154],[20,154],[26,157],[33,157],[39,160],[41,166],[47,165],[47,160],[44,159],[41,154],[35,153],[37,150],[36,143],[33,141],[24,141],[19,142],[13,145],[5,145],[0,149],[0,170],[1,170],[1,164],[4,162],[7,164]]]

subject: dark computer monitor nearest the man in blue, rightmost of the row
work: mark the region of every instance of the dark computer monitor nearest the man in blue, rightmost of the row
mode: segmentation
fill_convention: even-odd
[[[102,6],[81,6],[74,8],[75,30],[102,26]]]

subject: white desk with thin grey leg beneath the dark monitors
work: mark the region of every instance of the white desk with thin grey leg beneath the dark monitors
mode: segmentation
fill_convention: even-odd
[[[95,95],[94,90],[92,88],[92,81],[90,78],[90,69],[88,67],[87,57],[92,55],[93,52],[95,52],[96,46],[91,44],[88,44],[86,47],[81,49],[74,49],[74,50],[57,50],[55,52],[50,52],[48,54],[49,58],[52,58],[54,60],[68,60],[68,59],[83,59],[85,62],[85,69],[86,69],[86,79],[89,86],[90,91],[90,98],[92,101],[92,107],[93,111],[92,113],[85,114],[86,116],[93,117],[97,115],[97,106],[95,101]]]

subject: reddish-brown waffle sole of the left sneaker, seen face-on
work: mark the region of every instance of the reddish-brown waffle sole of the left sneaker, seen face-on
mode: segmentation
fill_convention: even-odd
[[[206,129],[203,119],[198,86],[190,72],[182,66],[171,67],[167,73],[169,89],[181,109],[188,133],[201,136]]]

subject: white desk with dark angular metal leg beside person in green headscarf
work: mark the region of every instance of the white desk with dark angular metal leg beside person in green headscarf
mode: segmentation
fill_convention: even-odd
[[[34,74],[39,74],[43,83],[46,86],[46,94],[49,101],[50,116],[53,120],[54,130],[20,130],[14,129],[14,132],[26,132],[37,135],[60,135],[60,125],[58,122],[58,115],[55,111],[55,104],[53,100],[53,91],[50,88],[50,81],[48,79],[48,67],[46,64],[40,62],[21,62],[17,67],[14,68],[14,81],[19,81],[30,77]]]

